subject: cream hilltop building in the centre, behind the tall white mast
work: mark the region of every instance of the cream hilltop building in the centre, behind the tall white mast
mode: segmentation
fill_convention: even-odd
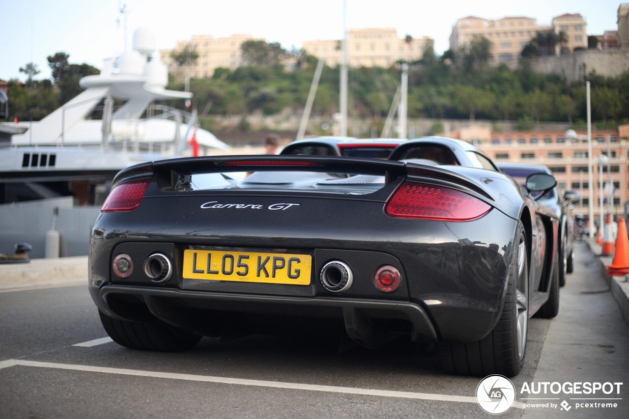
[[[390,67],[399,60],[420,60],[434,40],[423,36],[398,38],[394,28],[350,29],[347,33],[347,64],[350,67]],[[342,62],[340,40],[304,41],[306,53],[334,67]]]

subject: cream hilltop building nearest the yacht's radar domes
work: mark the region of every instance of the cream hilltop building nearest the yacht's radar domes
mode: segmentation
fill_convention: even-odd
[[[183,77],[186,73],[185,65],[180,66],[170,57],[173,51],[182,51],[189,47],[199,54],[196,62],[190,67],[190,77],[201,79],[212,77],[214,70],[225,67],[235,70],[243,64],[241,46],[243,42],[263,40],[251,35],[232,35],[227,38],[214,38],[208,35],[194,35],[189,41],[177,41],[174,50],[160,50],[160,60],[168,67],[168,72]]]

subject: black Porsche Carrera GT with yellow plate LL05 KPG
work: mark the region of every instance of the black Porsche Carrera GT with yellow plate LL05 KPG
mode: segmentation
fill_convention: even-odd
[[[401,161],[196,157],[122,170],[91,232],[105,330],[178,351],[230,328],[334,323],[367,347],[401,335],[435,345],[447,372],[518,374],[528,318],[559,309],[557,215],[499,171],[416,159],[410,143]]]

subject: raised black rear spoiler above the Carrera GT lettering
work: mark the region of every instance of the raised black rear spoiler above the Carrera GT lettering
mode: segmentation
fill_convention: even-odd
[[[226,172],[318,172],[347,175],[384,176],[385,183],[406,177],[409,181],[437,181],[438,183],[465,189],[492,199],[488,191],[469,178],[442,169],[397,160],[364,159],[360,157],[303,156],[303,155],[232,155],[184,157],[158,160],[133,165],[118,172],[113,185],[122,182],[147,179],[156,175],[160,187],[177,189],[178,184],[186,183],[193,174]]]

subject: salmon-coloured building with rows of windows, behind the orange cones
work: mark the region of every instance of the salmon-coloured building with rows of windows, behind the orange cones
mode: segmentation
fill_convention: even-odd
[[[529,163],[545,165],[552,170],[560,186],[574,189],[581,194],[576,203],[576,213],[587,215],[590,196],[588,194],[587,175],[587,132],[577,131],[577,138],[567,138],[565,132],[493,132],[489,139],[478,132],[476,138],[463,138],[474,142],[494,162]],[[478,138],[481,137],[481,138]],[[594,130],[592,132],[594,216],[599,215],[601,187],[599,176],[599,157],[607,155],[609,167],[603,166],[604,184],[614,185],[613,213],[622,215],[623,204],[629,198],[629,125],[618,130]]]

